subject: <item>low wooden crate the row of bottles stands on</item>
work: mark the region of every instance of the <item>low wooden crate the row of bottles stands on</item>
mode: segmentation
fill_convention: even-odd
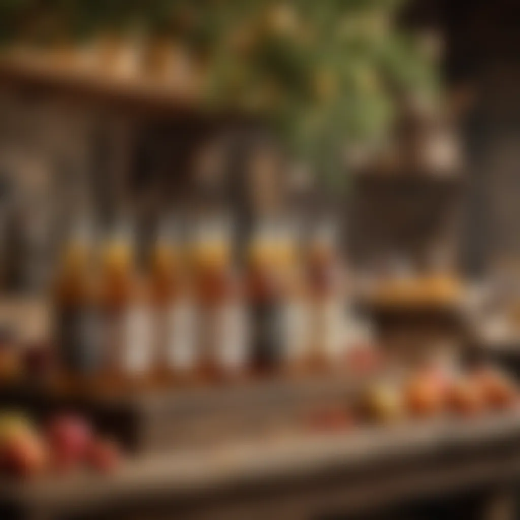
[[[15,386],[0,391],[0,407],[28,410],[41,419],[59,410],[78,411],[127,449],[149,453],[271,435],[316,407],[346,405],[369,379],[328,374],[115,394]]]

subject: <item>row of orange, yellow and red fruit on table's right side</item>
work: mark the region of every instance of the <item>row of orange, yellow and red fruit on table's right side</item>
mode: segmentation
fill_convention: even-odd
[[[307,425],[313,431],[335,431],[367,422],[479,417],[515,408],[520,404],[520,392],[512,379],[495,368],[449,374],[427,367],[405,380],[370,384],[352,401],[313,410]]]

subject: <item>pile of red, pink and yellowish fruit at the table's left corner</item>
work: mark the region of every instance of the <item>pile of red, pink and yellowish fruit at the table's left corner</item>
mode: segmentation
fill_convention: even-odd
[[[19,413],[0,415],[0,474],[35,477],[80,468],[108,473],[118,467],[117,444],[98,436],[76,415],[57,415],[38,428]]]

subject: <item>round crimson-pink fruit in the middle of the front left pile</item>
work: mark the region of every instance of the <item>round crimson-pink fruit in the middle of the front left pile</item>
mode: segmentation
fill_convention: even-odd
[[[84,460],[92,442],[92,428],[81,417],[61,415],[48,425],[47,439],[57,469],[68,469]]]

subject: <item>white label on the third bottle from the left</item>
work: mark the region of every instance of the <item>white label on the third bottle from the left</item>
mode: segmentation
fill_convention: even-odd
[[[197,313],[189,302],[177,302],[167,310],[165,354],[174,370],[190,370],[197,363]]]

